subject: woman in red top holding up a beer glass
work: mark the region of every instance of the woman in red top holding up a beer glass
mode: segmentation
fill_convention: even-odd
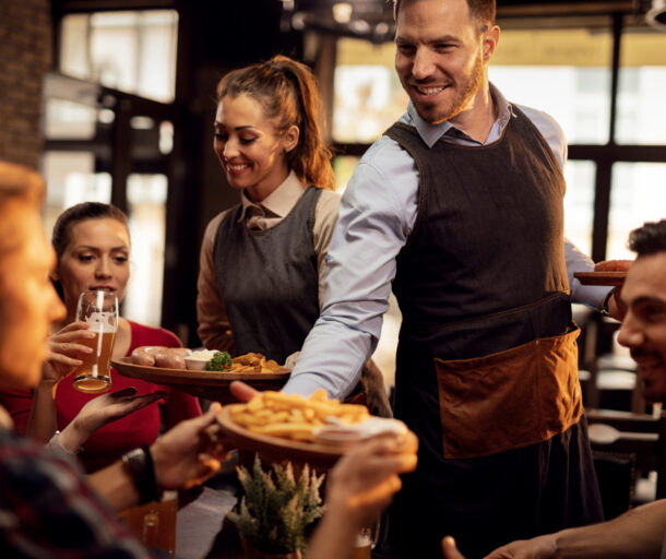
[[[58,258],[51,280],[64,301],[67,317],[50,336],[49,358],[36,389],[0,393],[0,403],[13,416],[17,430],[45,442],[96,397],[75,390],[75,374],[69,374],[82,365],[81,357],[90,353],[82,342],[95,335],[88,324],[76,321],[80,295],[106,292],[120,301],[130,278],[127,216],[112,205],[85,202],[70,207],[56,222],[51,241]],[[119,318],[111,358],[129,356],[134,348],[145,345],[179,347],[181,343],[167,330]],[[166,395],[95,431],[80,453],[88,472],[104,467],[131,449],[152,443],[163,420],[169,428],[201,415],[198,400],[181,391],[129,379],[114,369],[110,376],[114,391],[134,386],[139,394],[164,391]]]

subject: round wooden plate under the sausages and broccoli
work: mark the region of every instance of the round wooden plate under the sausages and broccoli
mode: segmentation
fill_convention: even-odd
[[[193,396],[217,401],[223,404],[237,402],[229,392],[229,384],[241,380],[257,390],[280,390],[287,382],[290,370],[282,372],[223,372],[194,371],[191,369],[163,369],[130,362],[129,357],[111,359],[114,367],[123,377],[141,379],[156,384],[168,384]]]

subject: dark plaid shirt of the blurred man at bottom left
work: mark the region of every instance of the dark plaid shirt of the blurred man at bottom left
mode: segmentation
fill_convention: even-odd
[[[78,464],[0,428],[0,557],[151,557]]]

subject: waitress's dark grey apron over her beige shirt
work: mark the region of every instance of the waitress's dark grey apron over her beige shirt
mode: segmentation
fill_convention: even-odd
[[[213,248],[217,288],[238,355],[284,362],[319,318],[319,272],[312,228],[321,190],[310,187],[289,214],[265,230],[239,226],[239,204],[219,223]],[[350,402],[391,416],[381,371],[369,361]]]

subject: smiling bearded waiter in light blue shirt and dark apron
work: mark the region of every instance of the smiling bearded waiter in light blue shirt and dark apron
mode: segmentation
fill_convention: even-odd
[[[345,190],[322,314],[285,388],[348,394],[393,289],[394,412],[420,441],[390,515],[402,557],[438,557],[444,534],[479,557],[600,520],[571,300],[599,307],[608,288],[572,278],[594,263],[563,236],[561,129],[488,81],[495,12],[396,0],[411,103]]]

